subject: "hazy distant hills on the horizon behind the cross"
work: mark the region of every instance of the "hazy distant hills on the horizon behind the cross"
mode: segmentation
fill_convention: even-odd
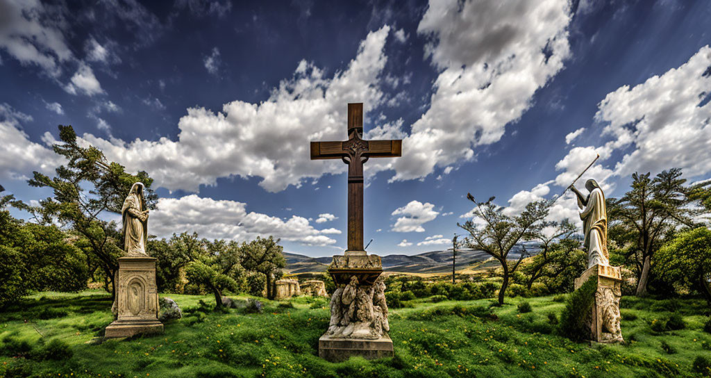
[[[520,256],[522,248],[516,247],[509,253],[509,258]],[[528,248],[528,251],[531,251]],[[465,249],[456,256],[457,271],[468,268],[475,263],[481,263],[489,257],[483,251]],[[309,257],[298,253],[284,253],[287,260],[286,271],[292,274],[325,272],[331,257]],[[387,255],[383,256],[383,270],[400,273],[448,273],[451,272],[451,251],[431,251],[417,255]]]

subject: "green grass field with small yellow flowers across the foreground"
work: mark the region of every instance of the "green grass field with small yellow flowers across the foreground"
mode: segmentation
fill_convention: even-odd
[[[264,313],[199,311],[210,296],[166,295],[186,311],[165,333],[92,342],[112,321],[102,292],[39,293],[0,313],[5,377],[701,377],[711,359],[701,300],[622,300],[625,345],[571,342],[555,333],[554,297],[428,303],[391,310],[395,357],[333,364],[317,357],[327,300],[264,301]],[[531,313],[518,313],[528,301]],[[675,310],[685,328],[656,332]],[[68,345],[52,340],[62,340]],[[663,344],[664,343],[664,344]],[[68,352],[70,351],[70,352]],[[70,353],[70,357],[67,355]]]

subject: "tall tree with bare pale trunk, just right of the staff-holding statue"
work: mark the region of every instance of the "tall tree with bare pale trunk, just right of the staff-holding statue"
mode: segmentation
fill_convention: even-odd
[[[690,202],[688,188],[681,174],[678,168],[661,172],[653,179],[649,173],[634,173],[631,189],[621,199],[609,201],[608,219],[634,240],[629,251],[638,272],[638,296],[647,294],[653,256],[665,236],[679,224],[693,224],[693,210],[686,206]]]

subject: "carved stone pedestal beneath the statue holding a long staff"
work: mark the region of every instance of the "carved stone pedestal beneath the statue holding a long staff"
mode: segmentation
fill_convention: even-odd
[[[590,278],[597,281],[592,316],[589,317],[590,340],[624,342],[620,330],[622,275],[619,266],[595,265],[575,279],[575,290]]]

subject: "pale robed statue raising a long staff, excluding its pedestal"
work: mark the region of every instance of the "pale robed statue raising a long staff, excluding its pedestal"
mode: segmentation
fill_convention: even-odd
[[[584,196],[578,189],[570,186],[577,196],[580,208],[580,219],[583,222],[585,241],[583,245],[587,250],[587,267],[595,264],[609,265],[607,253],[607,212],[605,209],[605,195],[602,188],[594,179],[585,182],[585,188],[590,192]]]

